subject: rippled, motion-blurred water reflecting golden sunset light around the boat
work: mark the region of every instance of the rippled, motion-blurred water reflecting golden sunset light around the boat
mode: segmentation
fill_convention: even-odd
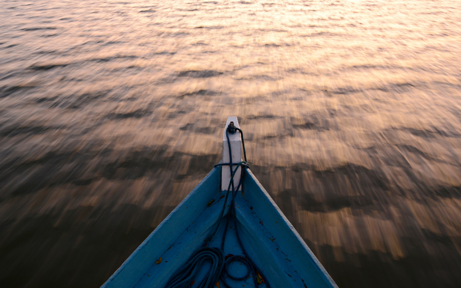
[[[461,285],[461,2],[0,1],[0,286],[99,287],[221,157],[339,287]]]

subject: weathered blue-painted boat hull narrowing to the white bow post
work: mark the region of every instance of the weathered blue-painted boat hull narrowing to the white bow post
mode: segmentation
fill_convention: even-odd
[[[242,185],[244,193],[239,191],[235,200],[239,235],[250,258],[262,270],[271,287],[337,287],[249,169],[245,170]],[[218,166],[160,223],[102,287],[165,287],[173,273],[203,245],[218,221],[218,232],[207,246],[220,247],[226,217],[219,219],[219,215],[225,193],[221,191],[221,166]],[[230,226],[224,253],[242,254],[236,235],[232,233],[234,228],[232,224]],[[234,262],[229,271],[235,276],[243,276],[246,268]],[[228,280],[228,283],[232,287],[254,286],[253,280],[249,279],[240,282]],[[224,288],[224,285],[221,286]],[[265,284],[258,286],[264,287]]]

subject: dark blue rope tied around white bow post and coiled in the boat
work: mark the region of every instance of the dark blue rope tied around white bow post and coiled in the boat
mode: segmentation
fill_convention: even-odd
[[[245,161],[241,161],[239,163],[232,163],[232,149],[231,149],[231,141],[229,140],[229,133],[234,134],[236,133],[236,131],[240,132],[240,135],[242,138],[243,157]],[[229,192],[232,191],[231,205],[229,208],[229,213],[227,214],[227,220],[226,220],[226,225],[224,228],[223,238],[221,241],[221,247],[220,248],[201,247],[197,249],[192,254],[192,256],[189,258],[189,260],[186,262],[186,264],[184,264],[183,268],[175,272],[175,274],[168,281],[168,284],[165,286],[165,288],[190,288],[192,286],[192,282],[194,281],[193,278],[201,270],[201,267],[205,262],[211,263],[211,268],[208,271],[205,278],[198,285],[199,288],[213,288],[216,285],[218,278],[227,288],[231,288],[231,286],[226,281],[227,277],[235,281],[243,281],[243,280],[248,279],[248,277],[251,274],[253,276],[255,287],[256,285],[260,284],[258,283],[257,279],[259,278],[261,278],[261,280],[266,279],[266,277],[261,272],[259,267],[256,266],[253,260],[248,256],[248,253],[243,247],[242,241],[240,240],[240,236],[238,235],[238,229],[237,229],[237,218],[236,218],[236,213],[235,213],[235,197],[237,195],[238,189],[240,188],[240,186],[242,186],[242,180],[243,180],[243,175],[244,175],[243,169],[250,167],[247,163],[247,153],[245,151],[245,142],[243,141],[243,132],[241,129],[238,129],[237,127],[231,126],[231,124],[229,124],[229,126],[227,126],[227,129],[226,129],[226,137],[227,137],[227,145],[229,147],[229,159],[230,159],[229,162],[230,163],[219,163],[219,164],[214,165],[213,167],[229,165],[230,172],[231,172],[231,181],[229,182],[229,186],[227,188],[226,197],[224,200],[223,208],[218,218],[219,219],[218,223],[214,229],[214,232],[210,234],[204,242],[204,246],[206,246],[207,241],[211,241],[214,235],[216,234],[216,232],[218,231],[219,223],[221,222],[220,219],[222,219],[224,215],[225,206],[227,203]],[[235,170],[232,171],[232,166],[237,166],[237,167],[235,168]],[[242,166],[240,181],[237,187],[235,187],[234,176],[237,172],[237,169],[240,166]],[[223,261],[225,237],[227,233],[227,227],[229,226],[229,222],[231,221],[231,219],[234,221],[234,226],[235,226],[234,231],[236,233],[238,244],[240,245],[240,248],[242,249],[244,256],[234,255],[234,256],[229,257],[226,261]],[[229,273],[228,267],[232,262],[241,262],[242,264],[246,266],[247,273],[245,274],[245,276],[235,277]],[[266,283],[266,287],[270,288],[270,285],[267,282],[267,280],[265,281],[265,283]]]

